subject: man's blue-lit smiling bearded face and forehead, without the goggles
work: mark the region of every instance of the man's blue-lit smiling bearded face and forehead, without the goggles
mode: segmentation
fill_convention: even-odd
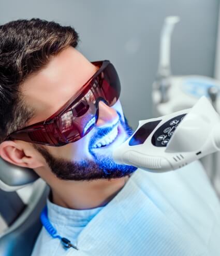
[[[60,109],[97,69],[73,47],[52,57],[46,68],[28,78],[22,86],[25,101],[36,109],[36,115],[28,125],[41,122]],[[137,169],[117,165],[112,159],[113,149],[133,133],[124,118],[120,101],[112,107],[100,101],[98,106],[96,126],[82,139],[60,147],[33,144],[58,178],[119,178]],[[118,135],[112,141],[116,133]],[[98,147],[94,148],[95,144]]]

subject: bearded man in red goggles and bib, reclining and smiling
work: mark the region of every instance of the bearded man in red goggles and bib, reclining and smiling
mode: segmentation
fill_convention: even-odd
[[[114,163],[132,130],[109,61],[88,61],[55,22],[12,21],[0,38],[0,155],[51,188],[33,256],[219,255],[219,201],[199,163]]]

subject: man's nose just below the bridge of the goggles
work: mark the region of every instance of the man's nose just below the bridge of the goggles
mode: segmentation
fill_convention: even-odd
[[[108,127],[118,122],[119,115],[113,107],[106,105],[103,101],[98,103],[98,120],[97,127]]]

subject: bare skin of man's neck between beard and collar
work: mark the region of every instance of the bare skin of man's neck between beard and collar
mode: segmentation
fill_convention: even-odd
[[[105,206],[124,187],[128,176],[111,180],[61,181],[51,187],[52,203],[69,209]]]

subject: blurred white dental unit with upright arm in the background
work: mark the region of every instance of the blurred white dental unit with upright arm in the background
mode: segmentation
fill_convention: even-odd
[[[179,21],[178,16],[166,17],[160,34],[159,64],[152,88],[153,116],[165,116],[189,109],[202,96],[206,96],[215,111],[220,113],[219,80],[196,74],[174,75],[171,72],[171,36]],[[200,161],[220,195],[220,152],[201,157]]]

